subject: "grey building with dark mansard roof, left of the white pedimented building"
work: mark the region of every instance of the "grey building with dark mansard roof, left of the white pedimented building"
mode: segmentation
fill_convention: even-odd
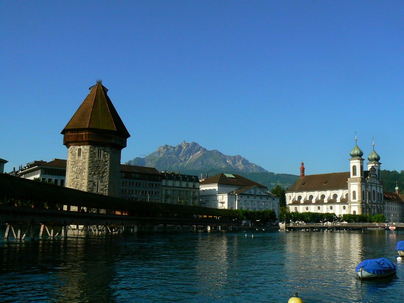
[[[162,172],[162,203],[199,205],[199,179],[197,176],[175,172]]]

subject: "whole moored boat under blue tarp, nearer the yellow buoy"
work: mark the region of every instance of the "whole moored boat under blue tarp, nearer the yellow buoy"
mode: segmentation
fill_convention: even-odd
[[[355,271],[360,279],[381,278],[394,274],[397,267],[387,258],[367,259]]]

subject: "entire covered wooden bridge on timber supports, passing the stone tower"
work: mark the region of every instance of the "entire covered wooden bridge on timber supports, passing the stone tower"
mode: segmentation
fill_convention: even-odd
[[[220,230],[240,221],[229,210],[148,203],[0,174],[5,238],[100,235],[147,230]]]

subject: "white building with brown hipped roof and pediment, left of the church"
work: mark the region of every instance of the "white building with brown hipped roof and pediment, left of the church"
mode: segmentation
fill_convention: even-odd
[[[200,182],[200,206],[231,210],[273,210],[279,217],[279,197],[236,174],[218,174]]]

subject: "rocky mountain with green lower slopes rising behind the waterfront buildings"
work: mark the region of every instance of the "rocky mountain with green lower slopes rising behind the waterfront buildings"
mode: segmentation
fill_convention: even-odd
[[[276,185],[290,187],[298,176],[275,174],[261,166],[249,162],[240,155],[227,156],[219,150],[208,150],[196,142],[183,141],[177,146],[160,146],[145,158],[134,158],[129,165],[155,167],[159,171],[174,171],[183,174],[213,176],[219,173],[236,173],[259,182],[269,189]]]

